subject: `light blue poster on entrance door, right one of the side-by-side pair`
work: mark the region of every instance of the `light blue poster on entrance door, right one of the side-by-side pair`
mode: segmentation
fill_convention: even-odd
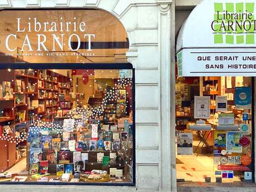
[[[227,131],[227,154],[242,152],[242,146],[239,142],[242,136],[238,131]]]

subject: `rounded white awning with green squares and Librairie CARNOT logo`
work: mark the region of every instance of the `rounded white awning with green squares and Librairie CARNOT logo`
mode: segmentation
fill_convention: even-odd
[[[256,76],[253,0],[204,0],[177,42],[179,76]]]

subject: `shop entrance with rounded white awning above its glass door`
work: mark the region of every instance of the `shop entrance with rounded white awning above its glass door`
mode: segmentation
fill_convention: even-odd
[[[181,27],[175,83],[178,183],[255,182],[255,4],[205,0]]]

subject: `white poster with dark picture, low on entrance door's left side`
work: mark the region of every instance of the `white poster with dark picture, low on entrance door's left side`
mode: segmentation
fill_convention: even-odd
[[[179,133],[177,143],[178,155],[192,155],[193,154],[193,134]]]

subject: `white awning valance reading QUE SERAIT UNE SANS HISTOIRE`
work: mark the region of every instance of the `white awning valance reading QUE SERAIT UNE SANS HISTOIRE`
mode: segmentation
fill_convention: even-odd
[[[253,48],[236,52],[227,48],[184,49],[180,61],[179,76],[256,76]]]

